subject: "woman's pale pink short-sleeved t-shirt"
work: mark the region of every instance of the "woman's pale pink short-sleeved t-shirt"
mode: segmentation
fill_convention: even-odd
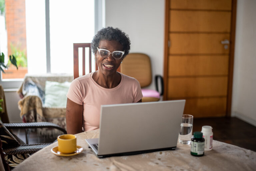
[[[121,74],[121,82],[115,88],[103,88],[92,78],[93,72],[72,81],[67,97],[83,105],[83,131],[99,128],[100,106],[106,104],[136,103],[142,98],[140,83]]]

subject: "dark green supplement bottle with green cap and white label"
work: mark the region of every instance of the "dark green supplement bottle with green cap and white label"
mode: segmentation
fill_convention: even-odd
[[[194,132],[194,136],[191,138],[190,154],[192,156],[204,155],[204,138],[202,132]]]

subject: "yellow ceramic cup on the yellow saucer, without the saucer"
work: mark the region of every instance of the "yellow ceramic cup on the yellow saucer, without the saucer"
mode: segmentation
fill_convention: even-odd
[[[65,154],[76,151],[76,136],[72,134],[63,134],[58,136],[58,151]]]

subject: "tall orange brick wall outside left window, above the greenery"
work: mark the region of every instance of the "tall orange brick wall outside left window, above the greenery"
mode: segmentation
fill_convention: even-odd
[[[25,0],[5,0],[8,55],[12,54],[10,43],[26,52]]]

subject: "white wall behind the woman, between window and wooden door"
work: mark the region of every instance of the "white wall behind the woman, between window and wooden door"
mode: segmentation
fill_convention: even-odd
[[[130,52],[147,54],[152,74],[163,76],[165,1],[106,0],[105,3],[106,26],[118,27],[128,34]],[[155,88],[154,83],[150,88]]]

